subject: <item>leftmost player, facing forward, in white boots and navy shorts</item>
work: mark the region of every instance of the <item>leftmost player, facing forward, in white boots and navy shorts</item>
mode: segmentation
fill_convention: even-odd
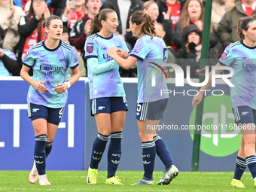
[[[68,88],[80,78],[75,50],[64,41],[62,20],[50,16],[44,23],[47,40],[29,47],[23,58],[20,76],[31,86],[27,96],[28,117],[35,130],[35,162],[29,182],[50,185],[45,175],[45,158],[50,154],[53,139],[68,99]],[[69,67],[73,76],[66,82]],[[29,69],[33,69],[30,78]]]

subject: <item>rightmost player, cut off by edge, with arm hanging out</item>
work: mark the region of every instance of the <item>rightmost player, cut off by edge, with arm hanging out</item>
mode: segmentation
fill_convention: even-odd
[[[235,122],[242,131],[241,146],[236,157],[236,169],[231,186],[245,187],[240,181],[246,166],[254,178],[256,187],[256,156],[255,156],[255,123],[256,123],[256,92],[255,92],[255,49],[256,20],[253,17],[242,17],[237,23],[237,35],[241,41],[230,44],[224,50],[216,66],[230,66],[234,70],[231,88],[231,107]],[[220,74],[222,70],[216,70]],[[208,83],[200,90],[206,90],[212,83],[212,72]],[[194,96],[192,106],[197,107],[203,98],[203,91]],[[254,128],[253,128],[254,127]]]

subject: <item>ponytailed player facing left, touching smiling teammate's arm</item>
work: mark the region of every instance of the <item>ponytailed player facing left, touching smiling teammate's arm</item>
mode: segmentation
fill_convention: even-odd
[[[163,178],[157,184],[169,184],[172,178],[178,175],[178,169],[172,163],[172,157],[166,143],[155,131],[147,130],[148,125],[157,126],[163,118],[169,96],[160,95],[160,90],[167,90],[165,78],[155,73],[155,82],[152,87],[151,74],[156,72],[153,68],[162,66],[167,59],[166,45],[158,37],[151,17],[143,11],[135,11],[130,17],[130,29],[133,36],[139,38],[127,59],[117,55],[115,47],[108,50],[111,56],[124,69],[130,69],[136,62],[138,68],[138,101],[136,118],[139,126],[139,136],[142,140],[142,160],[144,163],[144,176],[136,184],[154,184],[154,159],[157,155],[166,166]]]

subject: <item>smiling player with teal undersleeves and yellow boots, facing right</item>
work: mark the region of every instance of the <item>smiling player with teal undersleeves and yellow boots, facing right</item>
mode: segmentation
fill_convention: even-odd
[[[120,56],[128,56],[128,48],[120,35],[114,35],[118,26],[117,14],[111,9],[102,9],[93,21],[89,37],[85,42],[85,59],[87,59],[90,85],[91,114],[94,115],[98,136],[93,143],[93,151],[88,169],[87,183],[96,184],[98,164],[105,151],[109,137],[108,176],[106,184],[122,184],[115,177],[121,156],[122,130],[126,111],[128,110],[119,66],[110,56],[108,48],[114,46]]]

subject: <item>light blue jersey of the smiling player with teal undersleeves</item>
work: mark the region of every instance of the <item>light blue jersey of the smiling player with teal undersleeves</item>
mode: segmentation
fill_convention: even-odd
[[[103,38],[98,33],[90,35],[84,45],[85,59],[97,58],[99,65],[110,62],[112,58],[108,56],[107,51],[109,47],[113,46],[116,49],[122,48],[129,53],[126,43],[120,35],[111,34],[109,38]],[[92,68],[92,63],[87,62],[90,99],[125,96],[118,65],[114,69],[98,74],[93,74]]]

